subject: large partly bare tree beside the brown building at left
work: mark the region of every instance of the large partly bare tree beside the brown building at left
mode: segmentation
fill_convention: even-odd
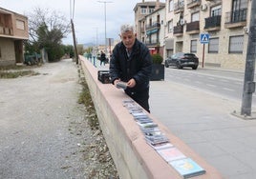
[[[28,15],[30,38],[25,43],[29,53],[45,49],[50,62],[59,60],[65,54],[62,39],[71,32],[69,21],[61,13],[36,8]]]

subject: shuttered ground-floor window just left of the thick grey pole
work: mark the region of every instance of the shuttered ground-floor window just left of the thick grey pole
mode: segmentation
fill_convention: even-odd
[[[244,35],[229,37],[229,53],[243,53]]]

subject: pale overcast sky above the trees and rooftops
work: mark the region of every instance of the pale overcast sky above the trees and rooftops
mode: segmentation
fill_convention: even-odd
[[[98,1],[75,0],[74,24],[78,44],[96,44],[96,42],[104,44],[105,42],[104,3]],[[134,24],[135,14],[133,9],[142,0],[101,0],[101,2],[104,1],[108,2],[106,3],[107,38],[118,39],[121,24]],[[0,7],[20,14],[28,14],[38,7],[56,10],[66,15],[67,20],[70,21],[71,2],[73,8],[73,0],[0,0]],[[164,0],[160,0],[160,2],[164,2]],[[72,34],[63,39],[63,43],[73,45]]]

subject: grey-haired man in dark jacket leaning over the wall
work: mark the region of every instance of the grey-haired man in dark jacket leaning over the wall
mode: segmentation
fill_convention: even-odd
[[[125,93],[150,112],[148,99],[152,58],[149,50],[136,38],[133,26],[121,26],[120,38],[121,42],[114,48],[110,60],[112,84],[117,87],[117,82],[126,82]]]

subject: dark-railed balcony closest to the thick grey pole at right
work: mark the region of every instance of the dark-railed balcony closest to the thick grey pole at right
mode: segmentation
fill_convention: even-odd
[[[224,28],[238,28],[246,26],[247,9],[234,10],[225,13]]]

